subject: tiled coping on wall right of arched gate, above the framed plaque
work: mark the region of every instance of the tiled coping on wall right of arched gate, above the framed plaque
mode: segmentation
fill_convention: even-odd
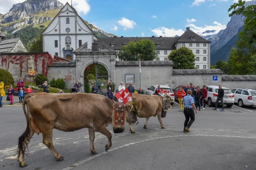
[[[172,61],[116,61],[117,65],[174,65]]]

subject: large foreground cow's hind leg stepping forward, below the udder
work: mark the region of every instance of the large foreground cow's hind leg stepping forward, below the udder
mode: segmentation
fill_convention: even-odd
[[[57,150],[55,150],[53,143],[52,143],[52,129],[48,131],[42,132],[43,134],[43,143],[48,147],[48,149],[51,151],[54,158],[57,159],[57,161],[63,161],[63,157],[58,154]]]

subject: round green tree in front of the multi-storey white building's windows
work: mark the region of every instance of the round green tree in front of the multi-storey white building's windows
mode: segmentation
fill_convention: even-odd
[[[173,50],[168,59],[174,63],[173,69],[195,69],[195,55],[187,47]]]

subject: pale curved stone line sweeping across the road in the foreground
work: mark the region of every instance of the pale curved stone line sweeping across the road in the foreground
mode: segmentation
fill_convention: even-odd
[[[84,159],[84,160],[81,160],[81,161],[79,161],[79,162],[77,162],[77,163],[75,163],[75,164],[73,164],[73,165],[70,165],[70,167],[66,167],[66,168],[64,168],[64,169],[62,169],[62,170],[71,170],[71,169],[73,169],[74,167],[77,167],[77,166],[79,166],[79,165],[81,165],[81,164],[84,164],[84,163],[86,163],[86,162],[88,162],[88,161],[90,161],[90,160],[93,160],[93,159],[95,159],[95,158],[98,158],[98,157],[100,157],[100,156],[102,156],[102,155],[105,155],[105,154],[108,154],[108,153],[110,153],[110,152],[113,152],[113,151],[115,151],[115,150],[119,150],[119,149],[121,149],[121,148],[123,148],[123,147],[130,147],[130,146],[132,146],[132,145],[134,145],[134,144],[138,144],[138,143],[142,143],[142,142],[148,142],[148,141],[153,141],[153,140],[158,140],[158,139],[166,139],[166,138],[175,138],[175,137],[189,137],[189,136],[200,136],[200,137],[202,137],[202,136],[204,136],[204,137],[206,137],[206,136],[209,136],[209,137],[231,137],[231,138],[249,138],[249,139],[256,139],[256,137],[246,137],[246,136],[223,136],[223,135],[189,135],[189,134],[187,134],[187,135],[177,135],[177,136],[165,136],[165,137],[157,137],[157,138],[152,138],[152,139],[145,139],[145,140],[140,140],[140,141],[136,141],[136,142],[132,142],[132,143],[129,143],[129,144],[124,144],[124,145],[121,145],[121,146],[118,146],[118,147],[115,147],[114,149],[109,149],[108,151],[104,151],[104,152],[102,152],[102,153],[98,153],[98,154],[96,154],[96,155],[93,155],[93,156],[90,156],[89,158],[87,158],[87,159]]]

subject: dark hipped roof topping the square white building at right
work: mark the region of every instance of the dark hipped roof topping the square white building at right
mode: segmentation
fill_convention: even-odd
[[[195,37],[195,40],[192,40],[190,37]],[[191,31],[189,28],[186,28],[186,31],[179,37],[177,42],[206,42],[211,43],[211,41],[204,39],[200,35]]]

